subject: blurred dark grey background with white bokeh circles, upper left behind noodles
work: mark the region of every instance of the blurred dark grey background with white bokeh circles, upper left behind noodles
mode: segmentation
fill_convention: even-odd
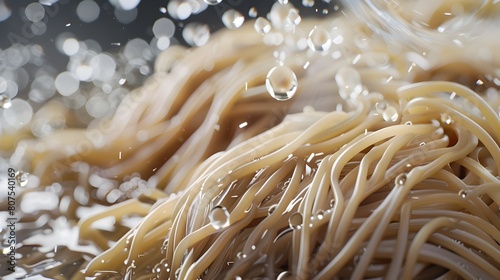
[[[53,99],[75,111],[73,126],[108,117],[153,72],[161,51],[203,45],[225,25],[266,17],[276,2],[0,0],[0,108],[12,107],[0,113],[0,132],[17,131]],[[339,10],[335,0],[279,2],[302,17]],[[43,137],[66,125],[32,132]]]

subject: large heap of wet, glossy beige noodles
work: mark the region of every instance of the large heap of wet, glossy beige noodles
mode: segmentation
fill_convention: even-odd
[[[343,42],[304,50],[316,25]],[[276,34],[248,24],[170,48],[113,118],[20,142],[13,161],[31,163],[38,189],[73,181],[91,194],[61,210],[69,219],[123,193],[78,223],[102,250],[84,275],[498,279],[499,41],[419,53],[344,16],[303,20],[280,46]],[[298,77],[289,101],[264,86],[276,57]],[[363,91],[342,99],[345,69]],[[126,233],[93,226],[131,216],[143,219]]]

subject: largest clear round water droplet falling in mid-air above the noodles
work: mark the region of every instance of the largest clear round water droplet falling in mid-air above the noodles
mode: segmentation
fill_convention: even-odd
[[[266,88],[274,99],[288,100],[297,91],[297,76],[292,69],[286,66],[273,67],[267,73]]]

